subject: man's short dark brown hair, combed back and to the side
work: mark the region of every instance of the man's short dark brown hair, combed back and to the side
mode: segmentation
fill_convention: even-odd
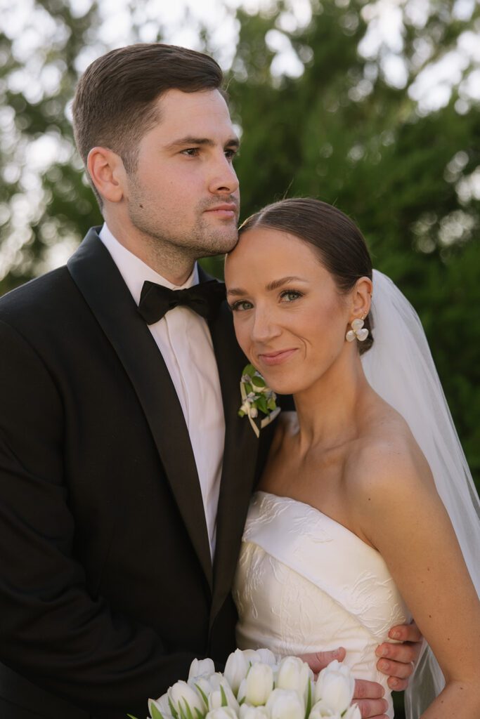
[[[173,89],[222,91],[222,81],[213,58],[186,47],[142,42],[107,52],[83,73],[73,99],[83,163],[92,147],[108,147],[122,157],[127,172],[135,172],[138,144],[160,121],[160,96]]]

